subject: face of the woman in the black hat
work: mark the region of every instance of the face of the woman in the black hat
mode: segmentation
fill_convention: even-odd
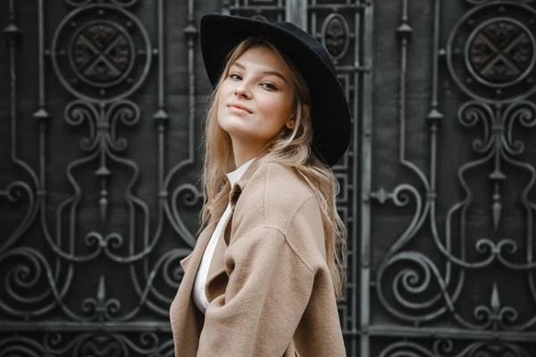
[[[262,148],[291,125],[294,84],[271,48],[254,46],[230,66],[218,93],[217,118],[233,141]]]

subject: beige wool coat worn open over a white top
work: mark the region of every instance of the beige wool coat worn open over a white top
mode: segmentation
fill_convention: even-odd
[[[214,252],[205,317],[192,286],[230,200],[230,224]],[[213,206],[170,310],[178,357],[346,356],[325,262],[320,207],[291,170],[255,160]]]

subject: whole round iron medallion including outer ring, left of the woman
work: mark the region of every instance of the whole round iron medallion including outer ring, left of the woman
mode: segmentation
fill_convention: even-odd
[[[109,103],[142,85],[152,47],[147,30],[131,12],[91,4],[73,10],[59,24],[50,57],[57,78],[72,95]]]

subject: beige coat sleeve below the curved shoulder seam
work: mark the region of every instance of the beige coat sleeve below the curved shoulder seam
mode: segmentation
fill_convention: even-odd
[[[227,249],[229,282],[205,311],[197,356],[281,356],[313,290],[314,271],[275,228],[256,228]]]

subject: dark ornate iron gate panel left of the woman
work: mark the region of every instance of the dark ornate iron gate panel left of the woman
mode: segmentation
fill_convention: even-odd
[[[201,203],[194,1],[2,12],[0,355],[172,356]]]

